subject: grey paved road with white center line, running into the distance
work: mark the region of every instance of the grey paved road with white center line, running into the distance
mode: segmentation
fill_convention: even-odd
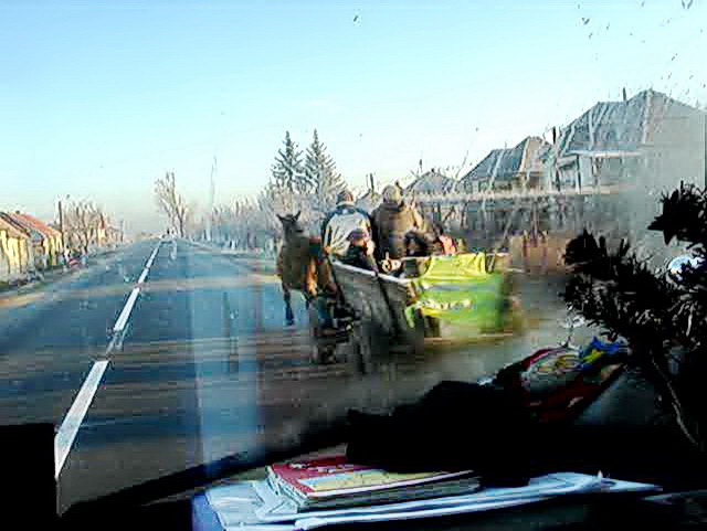
[[[445,378],[473,380],[549,338],[393,359],[362,378],[350,363],[309,362],[295,299],[298,327],[285,329],[276,278],[183,240],[125,247],[0,302],[0,415],[57,426],[65,509],[228,455],[286,447],[347,407],[387,407]]]

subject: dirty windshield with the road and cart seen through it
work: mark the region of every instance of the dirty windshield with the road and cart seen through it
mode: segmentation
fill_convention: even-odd
[[[647,227],[707,177],[706,21],[700,0],[2,2],[2,423],[53,424],[65,510],[541,349],[518,376],[541,396],[603,360],[536,412],[579,415],[631,316],[582,302],[566,247],[685,253]]]

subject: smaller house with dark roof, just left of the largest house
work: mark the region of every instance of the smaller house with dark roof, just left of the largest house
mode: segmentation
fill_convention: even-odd
[[[513,148],[494,149],[460,179],[456,191],[477,193],[540,188],[545,176],[541,156],[549,147],[540,137],[527,137]]]

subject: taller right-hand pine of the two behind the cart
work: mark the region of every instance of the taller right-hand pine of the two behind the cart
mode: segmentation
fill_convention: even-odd
[[[319,140],[317,130],[305,155],[304,180],[315,198],[315,209],[331,210],[336,197],[346,188],[346,182],[336,171],[334,159],[327,153],[326,146]]]

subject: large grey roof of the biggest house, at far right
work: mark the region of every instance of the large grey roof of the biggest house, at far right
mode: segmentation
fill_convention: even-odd
[[[635,152],[675,120],[700,110],[656,91],[643,91],[625,102],[599,102],[560,131],[558,157],[588,151]],[[677,124],[676,124],[677,125]]]

